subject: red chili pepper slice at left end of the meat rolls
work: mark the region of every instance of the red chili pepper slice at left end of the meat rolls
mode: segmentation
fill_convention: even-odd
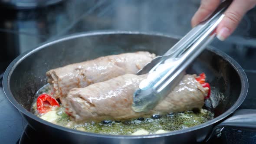
[[[51,110],[53,106],[59,107],[59,102],[48,94],[39,95],[36,101],[37,111],[41,114]]]

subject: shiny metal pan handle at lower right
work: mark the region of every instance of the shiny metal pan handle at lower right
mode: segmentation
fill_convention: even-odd
[[[213,136],[220,137],[221,131],[224,128],[233,127],[256,131],[256,109],[240,109],[235,111],[230,118],[227,118],[213,128],[213,131],[207,138],[206,142],[209,141]]]

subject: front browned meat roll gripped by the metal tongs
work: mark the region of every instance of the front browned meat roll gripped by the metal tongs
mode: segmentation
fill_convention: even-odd
[[[147,113],[131,109],[133,93],[143,78],[126,74],[85,88],[73,88],[62,105],[75,121],[124,120],[152,114],[165,114],[202,108],[208,88],[203,88],[194,75],[185,75],[164,100]]]

